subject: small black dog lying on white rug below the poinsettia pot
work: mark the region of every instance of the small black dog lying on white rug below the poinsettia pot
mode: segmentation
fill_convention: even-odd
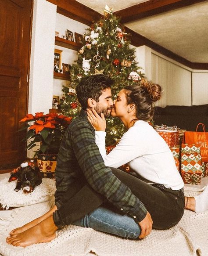
[[[22,188],[25,193],[31,193],[42,182],[39,168],[35,166],[34,162],[23,162],[10,174],[9,182],[17,180],[17,186],[14,188],[16,192]]]

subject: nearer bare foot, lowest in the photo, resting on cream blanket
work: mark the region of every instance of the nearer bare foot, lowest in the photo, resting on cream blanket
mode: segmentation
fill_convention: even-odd
[[[50,242],[56,237],[57,230],[53,216],[43,220],[28,230],[7,237],[7,243],[14,246],[26,247],[32,244]]]

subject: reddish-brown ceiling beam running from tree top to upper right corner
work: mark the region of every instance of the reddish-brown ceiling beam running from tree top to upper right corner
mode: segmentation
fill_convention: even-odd
[[[126,23],[204,1],[206,0],[149,0],[115,11],[114,14],[121,17],[122,23]]]

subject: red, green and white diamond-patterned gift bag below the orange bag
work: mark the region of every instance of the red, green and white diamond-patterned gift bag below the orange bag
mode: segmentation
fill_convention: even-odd
[[[196,144],[181,146],[181,176],[186,184],[200,184],[204,172],[200,148]]]

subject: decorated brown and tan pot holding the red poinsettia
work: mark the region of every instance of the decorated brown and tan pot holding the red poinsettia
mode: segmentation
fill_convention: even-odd
[[[43,178],[54,178],[56,169],[56,155],[37,154],[37,164]]]

